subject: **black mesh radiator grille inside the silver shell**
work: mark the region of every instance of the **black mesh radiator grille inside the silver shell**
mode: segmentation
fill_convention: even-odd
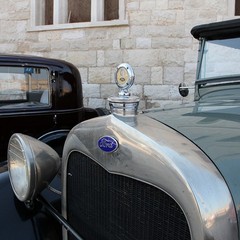
[[[67,217],[83,239],[191,239],[182,210],[158,188],[110,174],[78,152],[70,155],[68,173]]]

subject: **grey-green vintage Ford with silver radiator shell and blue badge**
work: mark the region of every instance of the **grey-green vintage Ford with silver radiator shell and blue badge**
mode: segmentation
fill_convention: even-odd
[[[192,34],[200,42],[193,103],[140,113],[124,63],[112,114],[76,125],[61,160],[43,142],[12,135],[0,239],[240,239],[240,20]]]

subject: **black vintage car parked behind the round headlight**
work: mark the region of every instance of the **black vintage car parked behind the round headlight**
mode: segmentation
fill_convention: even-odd
[[[0,161],[7,159],[15,132],[38,138],[61,154],[70,129],[98,112],[83,107],[80,74],[72,64],[0,55]]]

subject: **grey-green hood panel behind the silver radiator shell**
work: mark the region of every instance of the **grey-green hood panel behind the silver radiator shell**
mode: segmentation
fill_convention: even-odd
[[[196,103],[146,114],[187,137],[213,161],[228,184],[240,220],[240,102]]]

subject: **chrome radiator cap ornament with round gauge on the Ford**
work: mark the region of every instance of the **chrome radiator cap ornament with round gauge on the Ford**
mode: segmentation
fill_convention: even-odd
[[[119,88],[118,96],[108,98],[111,112],[117,116],[136,116],[140,99],[128,92],[135,80],[135,74],[128,63],[117,67],[115,82]]]

